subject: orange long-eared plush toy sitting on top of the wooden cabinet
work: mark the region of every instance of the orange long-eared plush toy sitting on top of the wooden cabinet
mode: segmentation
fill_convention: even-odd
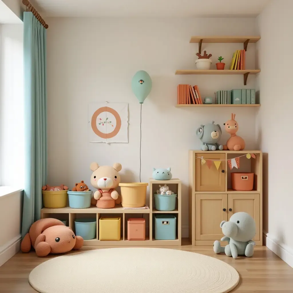
[[[238,123],[235,121],[235,115],[236,114],[231,113],[231,119],[224,123],[225,130],[231,135],[227,140],[226,145],[224,145],[224,150],[229,149],[230,151],[240,151],[245,148],[244,139],[236,135],[236,132],[238,131]]]

